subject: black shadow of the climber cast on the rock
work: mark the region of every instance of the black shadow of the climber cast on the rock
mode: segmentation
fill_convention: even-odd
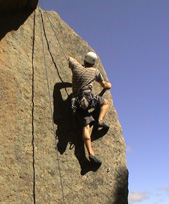
[[[81,167],[81,175],[89,171],[97,171],[100,166],[93,165],[85,156],[84,143],[82,139],[82,127],[78,123],[76,114],[71,110],[71,95],[63,100],[61,89],[71,87],[71,83],[56,83],[53,91],[54,99],[54,123],[57,125],[56,137],[58,139],[57,149],[60,154],[66,151],[66,148],[75,149],[75,156]],[[97,132],[97,131],[96,131]],[[93,134],[94,135],[94,134]],[[69,147],[68,147],[69,146]]]

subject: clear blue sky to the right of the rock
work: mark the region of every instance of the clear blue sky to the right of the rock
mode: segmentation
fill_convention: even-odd
[[[129,204],[168,204],[169,0],[43,1],[96,51],[112,83]]]

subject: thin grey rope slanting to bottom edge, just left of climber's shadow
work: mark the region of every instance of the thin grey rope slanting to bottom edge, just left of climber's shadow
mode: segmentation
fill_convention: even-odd
[[[59,159],[59,153],[57,148],[57,142],[56,142],[56,135],[55,135],[55,129],[54,129],[54,121],[53,121],[53,114],[52,114],[52,105],[51,105],[51,94],[50,94],[50,87],[49,87],[49,79],[48,79],[48,70],[47,70],[47,64],[46,64],[46,57],[45,57],[45,48],[44,48],[44,42],[43,42],[43,21],[42,21],[42,13],[39,9],[40,17],[40,31],[41,31],[41,42],[42,42],[42,50],[43,50],[43,57],[44,57],[44,66],[46,71],[46,81],[47,81],[47,88],[48,88],[48,97],[49,97],[49,105],[50,105],[50,114],[52,118],[52,128],[53,128],[53,134],[55,137],[55,145],[56,145],[56,154],[57,154],[57,161],[58,161],[58,168],[59,168],[59,176],[60,176],[60,184],[61,184],[61,190],[62,190],[62,201],[63,204],[65,203],[65,197],[64,197],[64,190],[63,190],[63,182],[62,182],[62,174],[61,174],[61,165],[60,165],[60,159]]]

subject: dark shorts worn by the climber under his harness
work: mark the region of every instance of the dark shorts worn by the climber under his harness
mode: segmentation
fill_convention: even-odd
[[[97,108],[100,109],[100,107],[104,104],[104,98],[94,94],[93,92],[85,93],[85,97],[87,98],[88,101],[90,102],[92,101],[95,104],[94,106],[95,109]],[[93,106],[91,108],[93,108]],[[78,108],[76,111],[77,118],[83,127],[87,125],[91,126],[95,123],[95,119],[89,110],[90,107],[86,110]]]

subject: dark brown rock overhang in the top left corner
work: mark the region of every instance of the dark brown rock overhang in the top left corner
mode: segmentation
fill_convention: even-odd
[[[0,0],[0,12],[35,9],[38,0]]]

